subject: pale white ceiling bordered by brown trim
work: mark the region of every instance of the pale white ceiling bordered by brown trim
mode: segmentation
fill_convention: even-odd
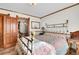
[[[0,8],[42,17],[71,5],[73,3],[37,3],[34,6],[31,3],[0,3]]]

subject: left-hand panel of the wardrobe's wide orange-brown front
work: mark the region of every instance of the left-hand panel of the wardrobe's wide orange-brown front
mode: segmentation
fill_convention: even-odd
[[[10,44],[11,39],[11,21],[10,18],[5,16],[4,17],[4,47],[7,47]]]

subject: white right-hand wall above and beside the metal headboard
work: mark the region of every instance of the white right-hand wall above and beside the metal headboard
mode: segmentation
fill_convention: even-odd
[[[45,26],[45,23],[48,24],[63,23],[66,20],[69,20],[68,30],[70,32],[79,30],[79,5],[58,12],[56,14],[50,15],[48,17],[42,18],[41,26]],[[53,29],[47,29],[47,30],[53,31]]]

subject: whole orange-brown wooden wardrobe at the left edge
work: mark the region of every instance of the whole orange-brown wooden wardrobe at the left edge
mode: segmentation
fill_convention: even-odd
[[[18,32],[18,17],[0,14],[0,48],[16,45]]]

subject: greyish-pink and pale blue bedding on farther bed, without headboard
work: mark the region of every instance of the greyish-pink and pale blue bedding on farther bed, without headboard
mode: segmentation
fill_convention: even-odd
[[[45,33],[44,35],[36,35],[36,39],[51,44],[55,50],[56,55],[65,55],[68,50],[66,35],[58,33]]]

